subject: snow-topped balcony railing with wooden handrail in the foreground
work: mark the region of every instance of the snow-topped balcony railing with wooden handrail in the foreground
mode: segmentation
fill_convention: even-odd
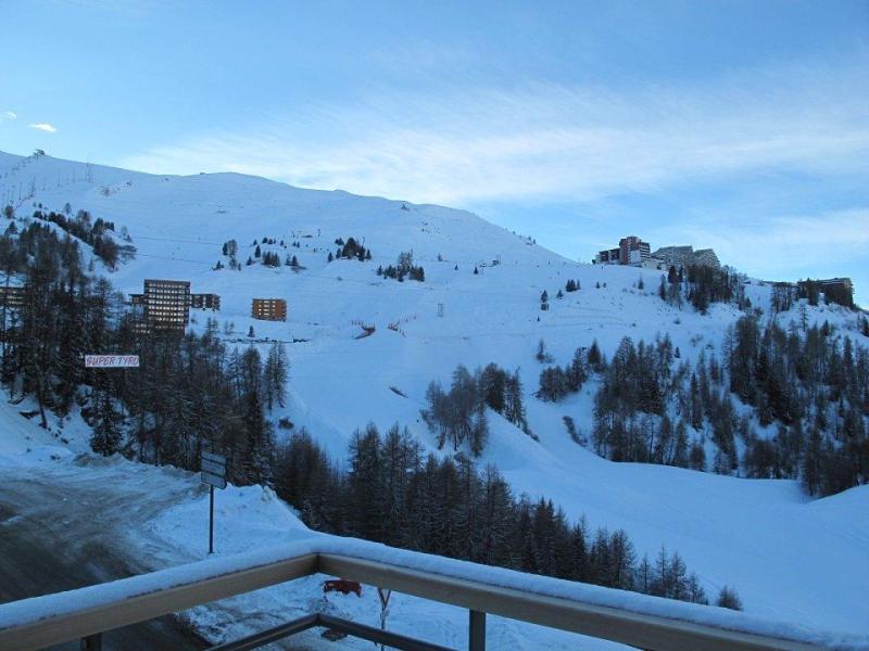
[[[834,636],[722,609],[362,540],[312,536],[277,549],[215,558],[2,604],[0,650],[41,649],[77,639],[83,640],[83,649],[99,649],[104,631],[313,574],[351,578],[468,609],[471,651],[486,648],[487,613],[659,651],[799,651],[840,643],[844,648],[869,648],[869,636]],[[316,626],[398,649],[444,649],[319,613],[218,649],[253,649]]]

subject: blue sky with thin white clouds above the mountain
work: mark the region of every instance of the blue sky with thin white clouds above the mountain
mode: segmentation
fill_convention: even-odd
[[[0,0],[0,150],[637,234],[869,306],[869,0]]]

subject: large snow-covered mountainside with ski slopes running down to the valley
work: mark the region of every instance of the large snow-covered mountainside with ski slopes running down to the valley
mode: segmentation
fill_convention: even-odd
[[[306,426],[336,458],[368,421],[381,430],[407,425],[436,449],[419,414],[431,380],[449,382],[459,363],[519,369],[539,442],[492,414],[480,459],[495,463],[517,493],[551,497],[595,526],[625,528],[640,556],[653,557],[662,545],[678,550],[709,592],[736,586],[752,614],[869,633],[866,487],[810,501],[794,481],[613,463],[574,443],[563,422],[570,416],[589,431],[591,386],[558,404],[533,397],[541,339],[565,363],[594,341],[610,356],[624,336],[668,333],[691,360],[703,349],[720,350],[740,316],[732,307],[714,305],[707,316],[673,308],[657,296],[658,271],[576,264],[462,210],[240,175],[150,176],[0,154],[0,200],[18,218],[38,204],[61,212],[68,203],[113,221],[137,248],[134,259],[106,270],[117,289],[141,292],[146,278],[189,280],[193,292],[222,298],[219,312],[192,310],[193,328],[213,317],[242,346],[251,327],[256,340],[288,342],[290,400],[269,416]],[[336,240],[350,237],[373,259],[327,261]],[[276,244],[261,244],[263,252],[281,260],[295,255],[303,268],[245,266],[253,242],[264,238]],[[228,240],[238,242],[241,270],[214,269],[228,261],[222,255]],[[404,251],[425,268],[424,283],[375,273]],[[581,290],[555,298],[568,279]],[[544,290],[549,311],[540,309]],[[755,305],[768,304],[768,288],[747,291]],[[253,297],[286,298],[287,322],[251,319]],[[811,308],[809,318],[854,327],[835,308]],[[357,339],[361,324],[374,333]]]

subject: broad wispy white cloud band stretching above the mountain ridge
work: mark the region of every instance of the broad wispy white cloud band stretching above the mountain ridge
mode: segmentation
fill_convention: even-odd
[[[852,174],[869,159],[859,71],[755,72],[714,86],[525,85],[414,94],[267,116],[123,164],[232,170],[414,201],[592,201],[763,169]]]

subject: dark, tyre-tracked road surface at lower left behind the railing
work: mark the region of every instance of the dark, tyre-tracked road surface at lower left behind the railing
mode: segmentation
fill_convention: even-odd
[[[0,602],[70,590],[153,569],[130,558],[124,535],[155,509],[182,496],[155,500],[147,486],[105,490],[99,473],[3,468],[0,485]],[[204,649],[207,643],[174,617],[114,630],[104,649]],[[78,649],[71,642],[56,649]]]

